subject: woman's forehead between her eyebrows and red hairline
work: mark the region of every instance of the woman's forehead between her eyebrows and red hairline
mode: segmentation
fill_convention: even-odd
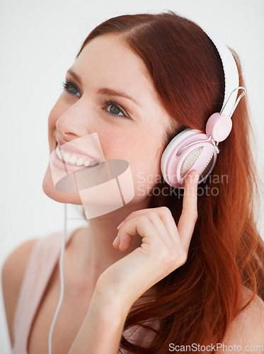
[[[122,90],[137,101],[142,95],[156,99],[144,62],[119,35],[101,35],[88,42],[71,68],[91,88]]]

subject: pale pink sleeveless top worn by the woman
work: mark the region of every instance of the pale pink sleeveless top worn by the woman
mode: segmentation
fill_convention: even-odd
[[[77,229],[67,232],[66,246],[76,231]],[[59,261],[62,237],[63,232],[52,232],[48,236],[41,237],[35,242],[30,253],[14,318],[13,354],[28,353],[30,329],[55,265]],[[157,321],[152,322],[152,326],[159,329]],[[142,331],[139,327],[134,326],[132,329],[127,329],[124,336],[127,339],[130,338],[131,342],[141,341],[146,345],[151,343],[154,333],[152,331]]]

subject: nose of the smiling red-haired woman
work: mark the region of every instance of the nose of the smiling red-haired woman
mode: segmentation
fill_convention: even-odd
[[[88,124],[87,108],[82,105],[71,105],[56,122],[57,132],[63,139],[72,140],[91,134]]]

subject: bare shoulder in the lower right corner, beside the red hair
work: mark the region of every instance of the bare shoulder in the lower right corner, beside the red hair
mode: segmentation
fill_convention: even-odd
[[[243,287],[243,304],[246,304],[251,296],[251,290]],[[257,353],[261,348],[263,350],[264,302],[258,295],[255,295],[251,304],[236,316],[223,343],[226,346],[234,346],[236,343],[236,346],[241,346],[241,353],[248,352],[246,346],[252,346],[251,353]]]

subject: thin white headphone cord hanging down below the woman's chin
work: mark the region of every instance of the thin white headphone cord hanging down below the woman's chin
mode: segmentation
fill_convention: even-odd
[[[49,354],[52,354],[52,332],[54,329],[55,322],[57,320],[57,316],[59,314],[59,309],[62,305],[62,299],[64,295],[64,275],[63,275],[63,259],[64,259],[64,251],[66,245],[66,233],[67,233],[67,204],[64,204],[64,234],[62,239],[62,249],[59,258],[59,278],[60,278],[60,295],[59,295],[59,302],[57,304],[57,309],[54,313],[54,317],[52,320],[52,325],[50,326],[50,333],[49,333]]]

